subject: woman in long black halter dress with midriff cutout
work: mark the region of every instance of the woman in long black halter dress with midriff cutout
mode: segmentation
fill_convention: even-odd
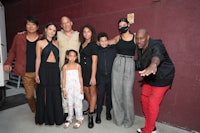
[[[36,124],[61,125],[63,109],[60,89],[59,50],[56,26],[47,24],[36,46]]]

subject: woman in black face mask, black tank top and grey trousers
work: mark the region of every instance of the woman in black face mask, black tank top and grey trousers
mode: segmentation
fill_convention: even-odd
[[[134,35],[129,31],[126,18],[118,21],[120,35],[110,40],[116,44],[117,56],[112,68],[112,103],[114,122],[117,125],[131,127],[134,123],[134,101],[132,88],[135,78]]]

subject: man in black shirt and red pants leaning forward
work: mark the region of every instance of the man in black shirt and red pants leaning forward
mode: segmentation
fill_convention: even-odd
[[[156,133],[156,119],[164,94],[170,88],[175,68],[161,40],[150,39],[146,29],[136,32],[136,69],[144,78],[141,92],[145,126],[138,133]]]

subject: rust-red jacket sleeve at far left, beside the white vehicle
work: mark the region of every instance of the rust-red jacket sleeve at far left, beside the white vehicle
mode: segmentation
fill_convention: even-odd
[[[16,57],[16,42],[17,42],[18,38],[19,38],[19,34],[15,35],[12,46],[8,53],[8,58],[5,61],[4,65],[11,65],[13,60],[15,59],[15,57]]]

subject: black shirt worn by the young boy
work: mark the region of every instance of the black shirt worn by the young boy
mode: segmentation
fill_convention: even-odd
[[[112,72],[113,61],[116,56],[115,45],[107,46],[105,48],[98,46],[98,49],[97,74],[110,75]]]

